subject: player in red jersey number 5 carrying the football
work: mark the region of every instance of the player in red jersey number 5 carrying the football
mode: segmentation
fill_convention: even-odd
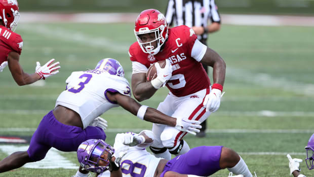
[[[158,110],[177,118],[203,122],[218,110],[225,80],[225,62],[203,45],[193,29],[181,25],[168,29],[165,16],[155,9],[144,10],[135,22],[137,42],[129,49],[132,61],[132,90],[139,100],[150,98],[166,85],[170,90]],[[156,61],[166,60],[161,68]],[[213,85],[202,66],[213,67]],[[157,77],[146,82],[146,72],[155,64]],[[185,132],[153,124],[155,141],[150,150],[156,157],[170,160],[171,154],[184,154],[189,146],[182,139]],[[171,153],[169,153],[169,152]]]

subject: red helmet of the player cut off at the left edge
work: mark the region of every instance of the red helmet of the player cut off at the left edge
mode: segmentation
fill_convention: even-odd
[[[0,0],[0,20],[5,27],[14,31],[20,19],[19,5],[16,0]]]

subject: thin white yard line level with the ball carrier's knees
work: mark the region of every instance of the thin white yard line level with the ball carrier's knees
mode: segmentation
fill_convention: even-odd
[[[34,132],[36,128],[0,128],[0,132]],[[108,128],[105,132],[121,133],[121,132],[140,132],[143,129],[138,128]],[[207,133],[313,133],[314,130],[301,129],[207,129]]]

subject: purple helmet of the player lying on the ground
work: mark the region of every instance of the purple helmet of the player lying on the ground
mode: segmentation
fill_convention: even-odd
[[[91,172],[102,173],[109,169],[109,160],[101,158],[104,152],[111,155],[114,149],[102,139],[89,139],[84,141],[77,149],[77,160],[81,166]],[[100,166],[99,160],[106,162],[106,166]]]

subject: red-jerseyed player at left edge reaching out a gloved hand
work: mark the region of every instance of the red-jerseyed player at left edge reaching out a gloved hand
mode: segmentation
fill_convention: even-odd
[[[17,1],[0,0],[0,12],[0,72],[9,65],[13,79],[19,86],[31,84],[59,73],[60,66],[57,66],[59,62],[52,64],[55,59],[51,59],[43,66],[37,62],[35,73],[24,73],[19,63],[23,40],[19,34],[14,32],[20,18]]]

